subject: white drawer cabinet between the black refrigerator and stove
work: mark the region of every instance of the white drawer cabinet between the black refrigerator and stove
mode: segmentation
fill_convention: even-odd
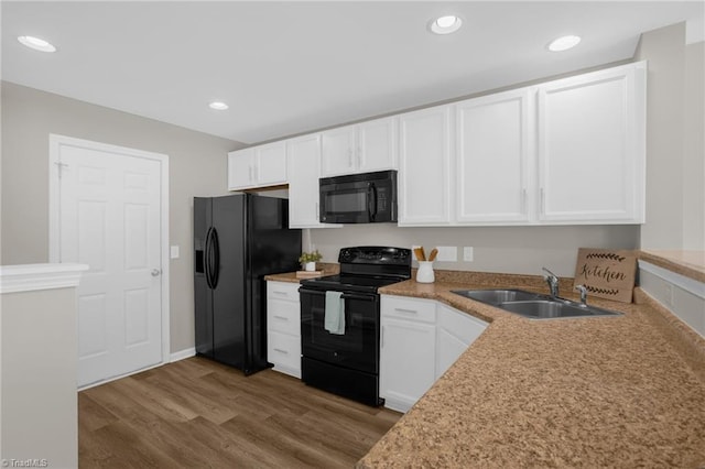
[[[267,282],[267,359],[274,370],[301,378],[297,283]]]

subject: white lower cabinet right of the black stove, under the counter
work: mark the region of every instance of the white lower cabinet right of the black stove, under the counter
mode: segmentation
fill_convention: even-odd
[[[380,396],[409,411],[487,323],[432,299],[382,295]]]

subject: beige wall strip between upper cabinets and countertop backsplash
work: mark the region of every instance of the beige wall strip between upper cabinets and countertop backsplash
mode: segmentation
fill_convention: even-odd
[[[578,248],[634,249],[638,226],[399,228],[358,225],[312,229],[311,242],[326,262],[337,262],[347,246],[456,247],[458,262],[436,262],[436,269],[541,275],[546,266],[556,275],[573,276]],[[304,249],[307,247],[304,237]],[[473,247],[473,262],[463,261],[463,248]]]

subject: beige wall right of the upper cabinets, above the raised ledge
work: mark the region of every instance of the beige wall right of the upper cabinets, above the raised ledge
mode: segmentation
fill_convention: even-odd
[[[649,61],[646,249],[705,250],[703,45],[685,45],[685,23],[642,34]]]

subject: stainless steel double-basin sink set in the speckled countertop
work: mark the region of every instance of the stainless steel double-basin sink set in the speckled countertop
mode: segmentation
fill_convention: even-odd
[[[454,290],[456,295],[475,299],[530,319],[558,319],[597,316],[621,316],[621,313],[598,308],[523,290]]]

